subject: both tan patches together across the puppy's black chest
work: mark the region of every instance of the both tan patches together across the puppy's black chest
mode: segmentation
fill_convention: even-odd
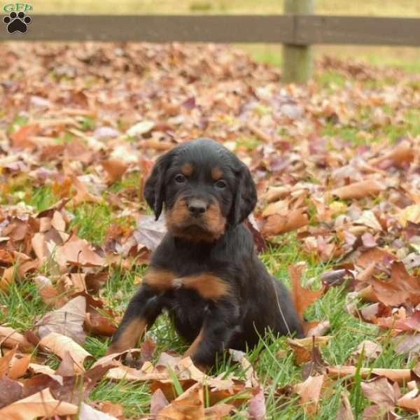
[[[150,267],[144,283],[160,293],[194,290],[204,300],[219,300],[232,293],[228,281],[209,272],[197,272],[180,276],[169,269]]]

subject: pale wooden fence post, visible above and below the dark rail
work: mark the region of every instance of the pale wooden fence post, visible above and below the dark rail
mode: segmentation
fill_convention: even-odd
[[[315,0],[285,0],[284,13],[309,15],[314,13]],[[294,27],[296,29],[296,27]],[[283,45],[283,80],[304,83],[312,76],[311,45]]]

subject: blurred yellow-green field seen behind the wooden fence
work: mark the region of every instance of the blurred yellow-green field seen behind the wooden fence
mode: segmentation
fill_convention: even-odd
[[[325,15],[369,15],[415,18],[420,16],[419,0],[315,0],[315,13]],[[75,14],[188,14],[188,13],[283,13],[282,0],[32,0],[36,13]],[[281,45],[240,45],[253,58],[281,65]],[[317,45],[314,55],[358,59],[375,65],[399,66],[420,71],[418,48],[356,45]]]

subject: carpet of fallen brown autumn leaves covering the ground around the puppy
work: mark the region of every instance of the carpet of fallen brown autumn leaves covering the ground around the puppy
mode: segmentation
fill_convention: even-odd
[[[102,381],[146,381],[153,419],[265,419],[272,395],[316,418],[344,382],[360,384],[363,418],[420,411],[418,75],[324,57],[318,74],[346,83],[285,85],[279,69],[211,44],[3,43],[0,55],[0,288],[33,286],[22,298],[45,305],[12,325],[0,308],[0,416],[129,418],[124,405],[89,400]],[[302,284],[304,265],[288,267],[307,337],[276,354],[293,352],[302,381],[273,384],[256,374],[259,358],[235,351],[236,370],[204,373],[158,356],[149,338],[130,353],[88,351],[87,338],[105,343],[123,314],[104,290],[113,270],[146,265],[165,235],[142,201],[155,158],[203,135],[253,173],[258,251],[292,232],[302,255],[329,266],[318,288]],[[92,211],[102,211],[98,231]],[[377,328],[342,365],[330,354],[335,322],[305,317],[335,287],[351,316]],[[380,365],[390,343],[399,368]],[[353,402],[340,392],[337,419],[362,414]]]

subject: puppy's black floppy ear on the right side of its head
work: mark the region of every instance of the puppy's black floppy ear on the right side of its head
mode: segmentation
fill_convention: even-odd
[[[243,222],[257,204],[257,190],[251,172],[246,165],[240,163],[241,167],[237,172],[237,190],[229,215],[229,223],[233,226]]]

